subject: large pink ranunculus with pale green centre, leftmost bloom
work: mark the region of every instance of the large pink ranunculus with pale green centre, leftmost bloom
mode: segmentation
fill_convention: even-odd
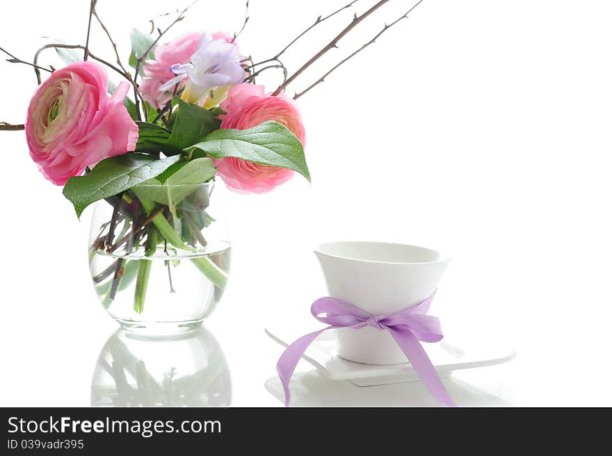
[[[63,185],[104,158],[134,150],[138,127],[123,100],[122,82],[110,97],[100,65],[78,62],[54,71],[30,101],[26,138],[45,177]]]

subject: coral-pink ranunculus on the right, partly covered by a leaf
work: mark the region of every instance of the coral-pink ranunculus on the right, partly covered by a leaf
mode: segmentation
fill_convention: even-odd
[[[273,96],[264,92],[264,86],[239,84],[230,89],[220,108],[227,113],[221,122],[223,129],[244,130],[275,120],[291,130],[302,145],[306,144],[296,102],[284,93]],[[293,171],[287,168],[259,165],[240,158],[220,158],[214,162],[227,187],[239,193],[266,193],[293,176]]]

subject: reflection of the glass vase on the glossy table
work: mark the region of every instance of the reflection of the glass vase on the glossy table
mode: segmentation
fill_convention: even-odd
[[[159,337],[118,329],[102,348],[91,385],[95,407],[227,407],[231,399],[227,361],[204,327]]]

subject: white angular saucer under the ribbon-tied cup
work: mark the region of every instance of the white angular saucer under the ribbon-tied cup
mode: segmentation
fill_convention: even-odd
[[[270,338],[287,347],[298,336],[289,336],[283,329],[266,329]],[[289,342],[287,342],[289,341]],[[475,342],[446,341],[423,343],[429,359],[440,377],[449,377],[453,371],[501,364],[513,359],[515,351],[508,345],[496,342],[490,337],[476,338]],[[375,386],[401,382],[419,381],[410,363],[376,366],[347,361],[337,355],[335,336],[332,331],[324,332],[305,351],[303,359],[308,361],[321,375],[330,380],[348,380],[356,386]]]

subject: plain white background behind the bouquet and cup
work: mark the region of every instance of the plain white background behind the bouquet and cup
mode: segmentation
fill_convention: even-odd
[[[242,53],[272,56],[344,1],[252,0]],[[97,9],[127,60],[131,27],[146,30],[183,3],[99,0]],[[81,43],[88,4],[3,2],[0,46],[31,60],[43,35]],[[390,1],[289,94],[409,6]],[[351,14],[292,48],[289,69]],[[263,328],[279,318],[296,337],[298,326],[319,327],[309,304],[325,286],[312,247],[338,239],[451,254],[433,313],[455,332],[512,341],[508,369],[479,370],[511,391],[509,402],[612,405],[611,15],[604,0],[425,0],[300,99],[312,185],[296,177],[268,195],[218,192],[233,270],[205,324],[230,365],[232,405],[280,404],[263,386],[280,355]],[[170,36],[231,32],[242,20],[243,1],[202,0]],[[96,26],[92,49],[112,59]],[[42,60],[60,66],[47,52]],[[273,89],[277,78],[266,82]],[[30,67],[0,62],[0,120],[22,123],[35,86]],[[89,405],[97,355],[116,325],[90,285],[88,217],[77,222],[61,188],[39,174],[23,132],[0,141],[0,405]]]

